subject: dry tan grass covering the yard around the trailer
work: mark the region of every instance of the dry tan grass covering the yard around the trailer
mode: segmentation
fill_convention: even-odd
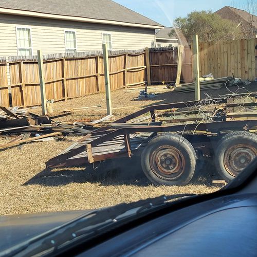
[[[174,98],[171,93],[166,93],[154,100],[134,101],[133,98],[137,95],[137,92],[125,94],[123,90],[112,93],[113,107],[134,106],[115,111],[115,118],[130,114],[148,104],[170,102]],[[103,94],[54,103],[54,109],[59,113],[65,108],[97,104],[102,104],[102,108],[105,108]],[[36,109],[32,110],[35,111]],[[96,119],[104,115],[104,111],[88,110],[64,118],[74,121],[85,117]],[[68,137],[68,139],[77,138]],[[0,143],[4,142],[7,140],[0,139]],[[96,170],[90,168],[46,170],[45,161],[59,154],[70,144],[70,141],[33,142],[24,145],[22,150],[15,146],[1,151],[0,214],[91,209],[162,194],[208,193],[218,189],[204,184],[155,187],[145,180],[135,159],[126,160],[127,162],[118,160],[115,164],[121,166],[122,172],[114,170],[107,173],[106,163]]]

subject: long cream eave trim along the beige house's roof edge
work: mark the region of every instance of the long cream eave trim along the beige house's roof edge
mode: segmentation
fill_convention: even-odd
[[[116,26],[118,25],[118,26],[126,26],[126,27],[138,27],[138,28],[149,28],[149,29],[164,28],[162,25],[148,25],[148,24],[108,21],[108,20],[100,20],[100,19],[98,20],[98,19],[85,18],[85,17],[66,16],[66,15],[59,15],[59,14],[49,14],[49,13],[7,9],[7,8],[0,8],[0,13],[39,17],[39,18],[54,19],[54,20],[65,20],[65,21],[85,22],[85,23],[100,23],[100,24],[108,24],[108,25],[116,25]]]

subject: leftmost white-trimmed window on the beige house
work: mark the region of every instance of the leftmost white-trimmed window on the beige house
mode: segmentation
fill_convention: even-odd
[[[16,28],[18,56],[32,56],[30,28]]]

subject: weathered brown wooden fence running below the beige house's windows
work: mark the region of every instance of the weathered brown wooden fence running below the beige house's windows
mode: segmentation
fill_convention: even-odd
[[[147,82],[146,70],[149,76],[151,74],[152,83],[175,82],[177,48],[151,48],[148,53],[146,56],[143,49],[109,51],[111,90],[144,84]],[[43,59],[46,99],[66,100],[105,90],[101,51],[50,54]],[[192,81],[190,61],[191,50],[188,48],[183,54],[181,80],[184,82]],[[8,65],[1,59],[0,105],[9,107],[8,72],[12,106],[40,105],[38,58],[9,57]]]

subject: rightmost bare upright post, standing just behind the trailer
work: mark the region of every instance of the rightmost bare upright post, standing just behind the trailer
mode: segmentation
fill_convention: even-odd
[[[195,87],[194,96],[195,96],[195,100],[200,100],[198,35],[193,35],[193,69],[194,69],[194,87]]]

